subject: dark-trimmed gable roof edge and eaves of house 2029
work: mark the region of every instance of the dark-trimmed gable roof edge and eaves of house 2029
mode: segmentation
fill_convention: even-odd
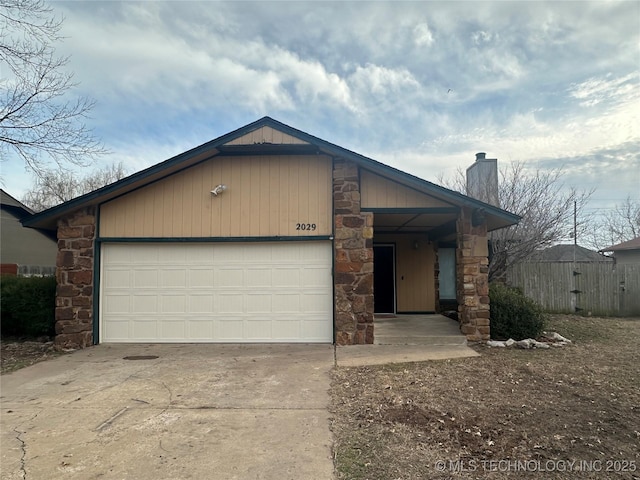
[[[265,141],[256,141],[252,144],[238,144],[237,142],[234,142],[234,140],[237,141],[241,137],[263,127],[271,127],[285,135],[299,139],[300,142],[290,144],[277,144]],[[365,157],[364,155],[360,155],[359,153],[352,152],[351,150],[327,142],[326,140],[314,137],[313,135],[285,125],[273,118],[263,117],[260,120],[169,158],[168,160],[153,165],[145,170],[134,173],[133,175],[125,177],[115,183],[37,213],[33,217],[26,219],[23,224],[27,227],[55,230],[57,220],[76,209],[106,202],[218,155],[246,155],[251,153],[272,153],[278,155],[285,153],[298,153],[301,155],[326,154],[334,158],[352,161],[367,170],[392,178],[401,184],[416,188],[417,190],[426,191],[430,195],[449,201],[453,204],[481,208],[485,212],[485,217],[488,220],[490,230],[513,225],[520,220],[519,216],[507,212],[506,210],[502,210],[501,208],[481,202],[459,192],[441,187],[435,183],[423,180],[409,173]]]

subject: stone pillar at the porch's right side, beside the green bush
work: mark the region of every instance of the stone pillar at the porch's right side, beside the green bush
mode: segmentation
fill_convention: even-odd
[[[456,283],[460,330],[470,341],[489,340],[489,250],[487,224],[473,226],[472,210],[458,217]]]

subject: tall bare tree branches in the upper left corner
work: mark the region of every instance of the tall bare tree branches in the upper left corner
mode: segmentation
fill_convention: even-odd
[[[49,160],[87,165],[104,153],[84,124],[93,102],[69,98],[69,58],[53,47],[61,26],[43,0],[0,0],[0,154],[16,153],[36,174]]]

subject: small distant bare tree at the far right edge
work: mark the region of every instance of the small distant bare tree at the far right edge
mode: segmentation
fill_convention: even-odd
[[[639,237],[640,202],[627,196],[613,210],[600,214],[595,223],[591,241],[598,250]]]

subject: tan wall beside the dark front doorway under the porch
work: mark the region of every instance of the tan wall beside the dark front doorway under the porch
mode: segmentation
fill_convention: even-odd
[[[376,235],[376,243],[396,245],[396,309],[432,312],[436,309],[435,251],[418,235]],[[418,242],[418,249],[415,242]],[[374,293],[375,294],[375,293]]]

